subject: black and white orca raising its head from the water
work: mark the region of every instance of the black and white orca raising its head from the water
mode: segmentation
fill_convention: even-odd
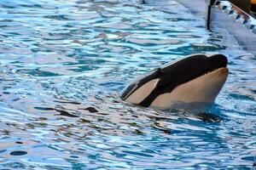
[[[228,77],[227,63],[223,54],[189,55],[137,77],[119,97],[157,108],[171,108],[178,102],[212,103]]]

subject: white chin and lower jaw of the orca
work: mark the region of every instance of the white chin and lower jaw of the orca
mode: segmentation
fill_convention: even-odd
[[[183,103],[212,103],[224,85],[229,74],[228,68],[219,68],[174,88],[171,93],[160,94],[151,107],[170,108]]]

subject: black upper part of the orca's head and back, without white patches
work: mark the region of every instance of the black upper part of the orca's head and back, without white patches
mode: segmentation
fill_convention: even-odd
[[[171,93],[178,85],[218,70],[219,68],[226,67],[227,63],[228,59],[223,54],[212,56],[194,54],[184,59],[179,59],[174,63],[163,65],[142,77],[138,77],[121,92],[120,98],[125,100],[146,82],[159,79],[151,94],[139,104],[148,106],[158,95]]]

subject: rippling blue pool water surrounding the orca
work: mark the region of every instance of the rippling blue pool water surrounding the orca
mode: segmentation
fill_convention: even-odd
[[[1,0],[1,169],[251,169],[256,59],[204,26],[175,1]],[[133,78],[195,53],[230,60],[205,111],[119,99]]]

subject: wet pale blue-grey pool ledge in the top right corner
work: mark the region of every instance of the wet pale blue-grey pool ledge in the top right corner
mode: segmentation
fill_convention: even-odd
[[[189,8],[195,16],[207,20],[207,0],[193,0],[193,3],[191,0],[177,0],[177,2]],[[222,33],[227,39],[236,41],[248,53],[256,55],[256,20],[253,16],[233,3],[218,0],[212,5],[210,15],[211,31]]]

